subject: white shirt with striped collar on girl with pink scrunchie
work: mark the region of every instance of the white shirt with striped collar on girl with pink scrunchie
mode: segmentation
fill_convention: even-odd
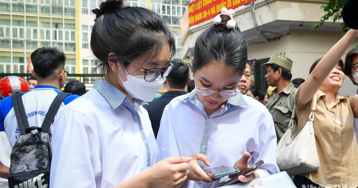
[[[196,94],[193,90],[176,97],[165,107],[157,136],[160,158],[179,155],[176,141],[179,138],[185,155],[201,153],[208,157],[211,167],[198,163],[203,169],[233,167],[248,151],[250,166],[259,160],[264,161],[256,171],[260,177],[280,172],[276,164],[274,121],[265,106],[238,91],[223,108],[207,117]],[[174,136],[174,126],[178,137]],[[183,187],[212,188],[224,180],[227,177],[211,183],[187,180]]]

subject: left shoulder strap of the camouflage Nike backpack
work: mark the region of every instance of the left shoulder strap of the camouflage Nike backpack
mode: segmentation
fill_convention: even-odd
[[[19,129],[20,129],[20,135],[24,135],[26,134],[26,129],[29,129],[30,126],[29,126],[29,121],[27,120],[26,117],[25,107],[22,101],[22,94],[21,93],[13,94],[12,100],[13,100],[16,120],[18,121]]]

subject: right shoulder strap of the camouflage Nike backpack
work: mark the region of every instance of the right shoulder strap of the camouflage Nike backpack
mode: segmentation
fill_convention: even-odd
[[[57,114],[58,109],[60,108],[63,100],[71,93],[65,93],[65,92],[61,92],[58,93],[58,95],[55,97],[55,99],[53,100],[53,102],[51,103],[50,108],[47,111],[47,114],[45,116],[45,120],[42,123],[41,126],[41,132],[46,132],[48,133],[51,124],[53,123],[55,116]]]

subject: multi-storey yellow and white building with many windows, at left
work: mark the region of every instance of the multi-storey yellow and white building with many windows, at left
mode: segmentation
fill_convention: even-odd
[[[63,51],[69,73],[91,73],[99,63],[90,47],[95,23],[92,10],[102,1],[0,0],[0,73],[25,73],[30,54],[39,47]],[[175,37],[174,58],[182,59],[180,21],[190,2],[137,0],[127,1],[126,5],[141,6],[160,14]],[[91,87],[93,80],[85,83]]]

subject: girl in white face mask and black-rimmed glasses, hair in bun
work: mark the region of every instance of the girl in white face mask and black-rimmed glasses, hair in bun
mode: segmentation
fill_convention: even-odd
[[[51,188],[180,187],[191,158],[159,162],[149,116],[173,67],[174,37],[160,16],[123,0],[101,3],[91,49],[104,78],[58,111],[53,124]]]

